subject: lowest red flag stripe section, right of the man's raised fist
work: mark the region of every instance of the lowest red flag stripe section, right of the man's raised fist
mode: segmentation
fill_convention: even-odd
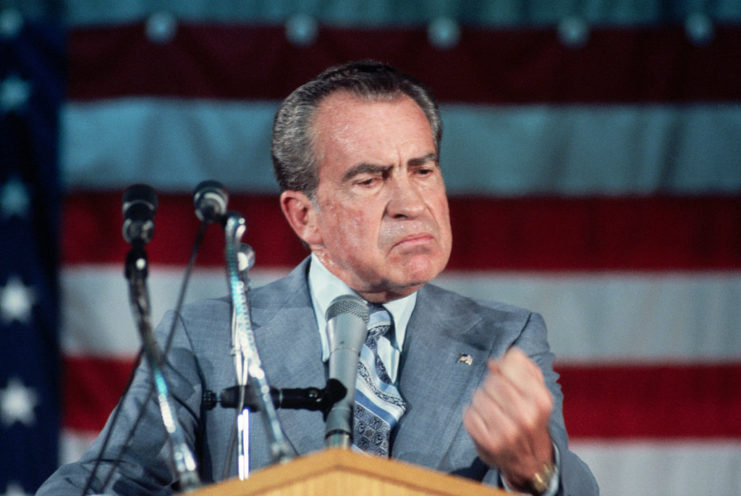
[[[556,369],[573,438],[741,438],[741,362]]]

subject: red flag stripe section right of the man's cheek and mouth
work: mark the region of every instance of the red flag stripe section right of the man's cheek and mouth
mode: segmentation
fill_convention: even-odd
[[[456,198],[453,269],[741,268],[741,197]]]

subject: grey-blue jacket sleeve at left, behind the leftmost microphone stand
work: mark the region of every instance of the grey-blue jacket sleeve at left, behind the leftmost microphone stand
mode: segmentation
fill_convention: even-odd
[[[155,334],[160,343],[166,338],[172,318],[169,313],[158,326]],[[197,370],[190,343],[179,325],[163,371],[170,404],[191,451],[197,445],[201,401]],[[129,436],[131,439],[127,442]],[[100,454],[104,444],[105,449]],[[114,469],[113,462],[119,456],[120,462]],[[89,493],[164,495],[176,490],[168,437],[152,386],[150,367],[144,362],[137,366],[131,386],[92,446],[80,460],[63,465],[52,474],[39,488],[37,496],[80,494],[98,459]]]

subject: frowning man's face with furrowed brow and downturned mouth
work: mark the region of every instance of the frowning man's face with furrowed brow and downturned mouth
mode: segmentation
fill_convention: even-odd
[[[316,228],[322,263],[370,301],[411,294],[450,256],[445,185],[432,130],[409,97],[327,97],[314,121]]]

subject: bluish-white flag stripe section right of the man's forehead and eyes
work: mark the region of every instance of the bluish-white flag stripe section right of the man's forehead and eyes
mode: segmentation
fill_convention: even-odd
[[[442,165],[454,193],[741,188],[739,105],[458,105],[443,112]]]

